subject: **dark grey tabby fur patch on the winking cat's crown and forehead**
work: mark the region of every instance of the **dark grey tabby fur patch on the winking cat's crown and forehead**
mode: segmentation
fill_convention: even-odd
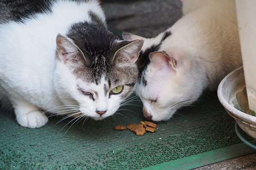
[[[104,85],[105,95],[110,88],[119,85],[127,85],[121,97],[128,96],[134,89],[138,79],[138,70],[135,64],[125,67],[117,66],[113,57],[116,51],[127,45],[128,41],[118,41],[118,39],[107,30],[102,20],[91,11],[91,22],[76,23],[70,27],[67,37],[73,40],[77,47],[82,51],[86,61],[81,59],[79,68],[75,68],[73,73],[77,78],[84,82],[95,83],[98,85],[105,77],[108,85]],[[117,56],[120,57],[120,56]],[[134,80],[136,80],[134,82]],[[124,95],[124,96],[123,96]]]

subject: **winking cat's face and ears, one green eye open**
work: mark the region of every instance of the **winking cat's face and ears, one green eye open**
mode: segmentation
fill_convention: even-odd
[[[58,98],[65,105],[79,105],[82,114],[96,120],[113,115],[133,92],[138,79],[135,62],[143,46],[143,40],[102,36],[100,41],[76,34],[56,38]]]

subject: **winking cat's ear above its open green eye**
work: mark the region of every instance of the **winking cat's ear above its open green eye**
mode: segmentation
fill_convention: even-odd
[[[118,66],[125,66],[125,65],[131,65],[134,62],[137,61],[140,50],[143,46],[144,41],[143,40],[135,40],[131,42],[122,41],[122,44],[126,44],[119,48],[113,57],[114,64]]]

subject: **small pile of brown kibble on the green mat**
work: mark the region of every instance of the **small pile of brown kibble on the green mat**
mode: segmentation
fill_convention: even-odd
[[[127,127],[127,128],[126,128]],[[148,122],[148,121],[140,121],[140,124],[136,124],[136,123],[131,123],[127,126],[124,125],[117,125],[114,127],[115,130],[125,130],[125,129],[129,129],[131,131],[133,131],[134,133],[136,133],[136,135],[140,135],[143,136],[146,133],[146,130],[148,132],[155,132],[157,129],[157,125],[154,124],[153,122]]]

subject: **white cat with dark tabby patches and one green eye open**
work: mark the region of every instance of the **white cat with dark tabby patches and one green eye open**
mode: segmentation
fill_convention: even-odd
[[[103,119],[132,93],[142,46],[108,31],[96,0],[2,0],[1,98],[24,127],[45,125],[53,108]]]

